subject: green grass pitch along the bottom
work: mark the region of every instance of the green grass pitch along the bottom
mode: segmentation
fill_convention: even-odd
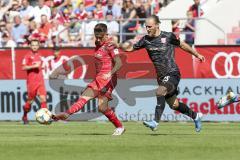
[[[125,122],[127,131],[111,136],[109,122],[58,122],[48,126],[0,122],[0,160],[239,160],[240,124],[162,122],[152,132]]]

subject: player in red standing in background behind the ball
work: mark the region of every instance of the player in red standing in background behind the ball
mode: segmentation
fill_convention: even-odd
[[[28,123],[27,113],[31,109],[31,103],[38,95],[41,103],[41,108],[47,108],[46,89],[42,74],[42,61],[38,53],[39,41],[32,40],[30,43],[31,52],[25,55],[22,62],[22,69],[27,72],[27,93],[28,98],[23,107],[24,114],[22,117],[23,123]]]

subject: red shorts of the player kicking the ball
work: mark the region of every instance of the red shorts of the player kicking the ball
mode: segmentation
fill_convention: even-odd
[[[97,91],[99,95],[112,100],[112,91],[117,85],[117,76],[114,75],[111,79],[103,79],[102,76],[97,76],[95,80],[88,84],[87,87]]]

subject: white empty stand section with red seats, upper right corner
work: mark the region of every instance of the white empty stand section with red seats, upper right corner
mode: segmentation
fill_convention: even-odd
[[[239,32],[236,32],[240,21],[238,7],[240,1],[234,0],[229,3],[228,0],[219,0],[211,5],[212,8],[203,15],[205,20],[200,20],[196,24],[195,44],[236,44],[236,39],[240,37]]]

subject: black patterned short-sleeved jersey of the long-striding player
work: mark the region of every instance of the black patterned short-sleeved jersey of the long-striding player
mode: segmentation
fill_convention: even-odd
[[[134,49],[145,48],[152,60],[158,77],[164,77],[168,73],[179,72],[175,62],[175,47],[180,45],[179,39],[172,32],[161,31],[157,37],[142,37]]]

